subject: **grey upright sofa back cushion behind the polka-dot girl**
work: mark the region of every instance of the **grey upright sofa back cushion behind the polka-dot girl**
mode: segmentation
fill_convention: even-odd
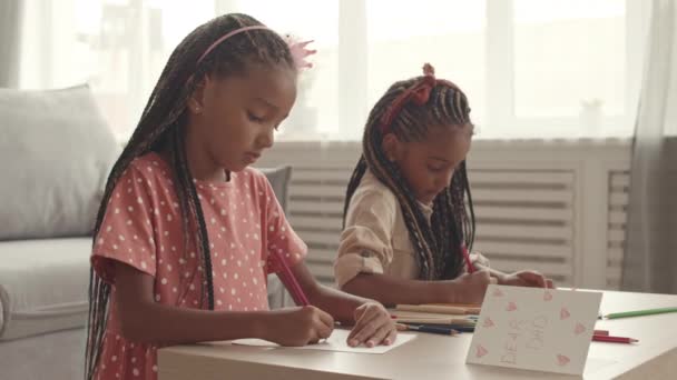
[[[0,240],[90,233],[119,150],[89,87],[0,89]]]

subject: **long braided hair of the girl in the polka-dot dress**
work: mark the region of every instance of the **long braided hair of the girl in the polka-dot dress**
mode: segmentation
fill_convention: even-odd
[[[205,281],[202,282],[200,306],[209,310],[214,309],[209,241],[184,146],[188,121],[187,102],[196,87],[208,74],[244,74],[247,66],[252,63],[283,64],[294,69],[294,59],[285,40],[264,28],[234,34],[202,57],[208,47],[226,33],[253,26],[262,23],[246,14],[224,14],[199,26],[174,49],[129,142],[108,176],[94,229],[96,238],[112,191],[129,163],[151,151],[168,152],[176,178],[175,190],[179,200],[185,247],[188,248],[189,241],[195,242],[199,257],[198,269],[204,269],[205,276]],[[94,268],[90,269],[86,379],[94,377],[100,358],[110,290],[111,286],[105,282]]]

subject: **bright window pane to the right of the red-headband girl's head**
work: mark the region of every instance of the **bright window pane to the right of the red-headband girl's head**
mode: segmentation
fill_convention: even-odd
[[[514,0],[516,117],[622,116],[625,13],[618,0]]]

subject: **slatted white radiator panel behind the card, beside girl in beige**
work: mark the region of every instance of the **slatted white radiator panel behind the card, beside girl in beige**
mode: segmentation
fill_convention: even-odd
[[[475,206],[475,249],[502,271],[531,268],[558,283],[573,282],[571,170],[469,172]]]

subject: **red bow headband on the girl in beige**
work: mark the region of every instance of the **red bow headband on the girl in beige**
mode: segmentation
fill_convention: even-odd
[[[389,107],[389,109],[381,117],[381,132],[383,134],[390,132],[390,124],[393,122],[402,107],[408,102],[413,102],[416,106],[423,106],[430,99],[430,91],[435,84],[444,84],[451,88],[458,89],[458,87],[443,79],[435,79],[435,69],[430,63],[423,64],[423,79],[402,92]]]

